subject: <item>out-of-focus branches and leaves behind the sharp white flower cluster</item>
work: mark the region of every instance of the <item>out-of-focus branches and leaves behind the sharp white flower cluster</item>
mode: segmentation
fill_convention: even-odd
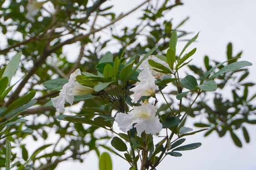
[[[0,45],[0,69],[4,68],[17,52],[22,51],[15,79],[23,77],[0,106],[8,108],[21,96],[30,94],[31,91],[35,91],[34,99],[37,101],[34,107],[19,114],[20,116],[29,115],[27,116],[29,121],[10,125],[4,134],[30,128],[34,131],[31,136],[35,141],[50,140],[48,135],[55,134],[56,140],[52,141],[52,144],[45,145],[45,142],[41,142],[42,145],[37,150],[33,150],[31,155],[27,151],[30,146],[24,142],[27,134],[8,137],[12,142],[12,148],[15,148],[11,153],[12,166],[21,167],[20,169],[53,170],[60,162],[66,160],[82,162],[83,156],[92,150],[100,155],[98,145],[102,143],[101,141],[104,143],[105,140],[110,139],[110,134],[95,135],[98,129],[95,126],[60,123],[60,120],[56,119],[59,113],[56,113],[55,108],[45,106],[50,98],[58,95],[58,92],[46,90],[42,83],[58,77],[68,78],[77,68],[82,71],[96,72],[95,64],[108,51],[108,45],[114,44],[118,47],[118,52],[113,54],[116,57],[131,40],[125,51],[125,57],[134,57],[137,61],[141,54],[145,54],[155,46],[159,49],[156,53],[166,52],[172,30],[178,32],[178,40],[186,40],[189,30],[182,30],[181,27],[188,18],[181,20],[178,25],[172,25],[172,20],[164,17],[176,6],[183,5],[180,0],[145,0],[141,1],[140,5],[129,9],[127,13],[121,14],[113,12],[112,5],[109,5],[111,1],[107,0],[47,0],[33,16],[35,20],[26,17],[29,3],[33,1],[0,1],[1,39],[5,41]],[[131,27],[127,23],[127,27],[117,30],[115,23],[136,10],[141,10],[143,13],[138,16],[138,24]],[[72,44],[79,45],[80,51],[74,53],[77,54],[73,56],[75,62],[70,63],[63,50],[65,48],[72,50],[72,47],[68,48],[68,45]],[[227,45],[226,51],[227,60],[242,56],[242,52],[233,53],[231,43]],[[236,60],[241,59],[233,61]],[[185,72],[194,72],[200,80],[204,73],[221,62],[204,56],[203,65],[188,65]],[[218,68],[221,69],[221,66]],[[237,137],[236,131],[242,130],[245,141],[250,142],[250,131],[246,129],[246,124],[256,124],[256,120],[252,119],[256,110],[256,94],[250,91],[254,82],[246,80],[248,75],[249,71],[245,68],[218,76],[215,78],[218,87],[221,89],[230,87],[228,90],[232,98],[227,99],[218,91],[214,92],[214,95],[203,92],[205,94],[202,94],[202,97],[193,105],[189,115],[191,117],[203,115],[206,118],[195,124],[196,127],[209,128],[205,136],[211,135],[213,131],[216,131],[220,137],[230,135],[231,140],[241,147],[244,140]],[[10,85],[13,85],[16,80],[11,81]],[[173,86],[176,85],[173,84]],[[166,92],[166,96],[172,101],[171,104],[175,110],[178,110],[178,105],[172,100],[176,95],[176,90]],[[189,100],[190,95],[193,93],[183,100]],[[84,107],[100,107],[104,104],[106,104],[104,101],[95,99],[80,103]],[[188,105],[184,105],[182,110],[186,110],[187,107]],[[158,111],[162,113],[170,110],[168,105],[163,104]],[[80,112],[70,111],[69,114],[87,113],[90,114],[88,111],[81,110]],[[49,148],[51,151],[39,154],[40,151]],[[6,149],[5,140],[0,139],[0,160],[5,160]],[[0,161],[0,166],[5,167],[5,162],[2,162]]]

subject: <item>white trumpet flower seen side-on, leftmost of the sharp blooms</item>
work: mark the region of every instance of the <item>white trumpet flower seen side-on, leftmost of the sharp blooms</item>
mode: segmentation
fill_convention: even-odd
[[[94,92],[92,88],[80,85],[75,81],[77,75],[81,75],[80,69],[75,70],[75,72],[70,75],[69,82],[63,85],[59,96],[51,99],[53,106],[62,113],[65,111],[65,101],[72,105],[74,95],[88,95]]]

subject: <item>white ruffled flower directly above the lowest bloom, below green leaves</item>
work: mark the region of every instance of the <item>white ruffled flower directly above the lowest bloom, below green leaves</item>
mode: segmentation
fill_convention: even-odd
[[[134,92],[133,102],[140,100],[141,96],[150,96],[155,94],[155,90],[158,90],[157,85],[155,84],[156,79],[151,74],[149,68],[144,68],[138,76],[140,82],[136,83],[136,86],[130,90]]]

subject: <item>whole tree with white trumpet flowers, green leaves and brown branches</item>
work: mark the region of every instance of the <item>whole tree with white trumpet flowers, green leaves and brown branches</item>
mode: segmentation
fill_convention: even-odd
[[[187,18],[175,26],[164,17],[179,5],[145,0],[118,14],[106,0],[2,0],[0,167],[53,170],[95,151],[100,170],[112,169],[110,152],[131,170],[153,170],[163,159],[200,147],[189,135],[202,131],[220,137],[229,131],[241,147],[241,129],[248,143],[246,124],[256,123],[256,95],[249,95],[254,83],[245,82],[251,63],[241,52],[234,55],[230,43],[226,60],[205,56],[203,66],[191,65],[196,48],[190,45],[199,34],[178,51]],[[136,10],[142,12],[139,24],[115,27]],[[73,63],[66,50],[76,55]],[[184,70],[189,74],[181,77]],[[232,99],[216,92],[231,81],[237,82],[230,86]],[[198,115],[206,117],[195,123],[200,130],[185,126],[187,116]],[[110,133],[99,136],[98,130]]]

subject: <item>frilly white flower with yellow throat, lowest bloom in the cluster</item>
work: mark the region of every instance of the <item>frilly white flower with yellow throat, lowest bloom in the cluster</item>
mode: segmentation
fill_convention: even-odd
[[[156,106],[150,103],[142,103],[141,106],[133,106],[133,110],[128,114],[118,113],[115,117],[120,130],[127,132],[132,128],[132,125],[137,130],[137,135],[145,131],[146,134],[156,135],[162,130],[162,124],[156,115]]]

